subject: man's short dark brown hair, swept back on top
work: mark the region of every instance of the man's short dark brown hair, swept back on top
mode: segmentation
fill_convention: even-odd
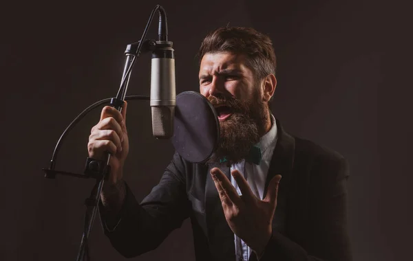
[[[250,27],[220,27],[205,36],[202,41],[198,58],[201,61],[204,54],[231,52],[244,54],[246,65],[253,71],[257,80],[262,80],[268,74],[275,75],[276,59],[271,39]]]

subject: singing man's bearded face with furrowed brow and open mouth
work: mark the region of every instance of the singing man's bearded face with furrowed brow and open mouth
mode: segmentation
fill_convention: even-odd
[[[241,161],[268,126],[261,82],[246,66],[245,56],[230,52],[205,54],[199,79],[200,93],[213,104],[220,121],[220,145],[210,161]]]

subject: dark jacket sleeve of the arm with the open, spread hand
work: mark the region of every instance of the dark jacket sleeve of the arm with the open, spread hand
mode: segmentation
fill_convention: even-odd
[[[308,220],[301,245],[273,231],[260,261],[352,260],[347,229],[348,163],[337,155],[315,160],[308,182]]]

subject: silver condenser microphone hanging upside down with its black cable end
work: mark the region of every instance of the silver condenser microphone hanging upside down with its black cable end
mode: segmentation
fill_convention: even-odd
[[[156,138],[168,139],[173,135],[173,117],[176,106],[175,57],[172,42],[167,39],[167,18],[159,9],[158,41],[151,60],[151,113],[152,132]]]

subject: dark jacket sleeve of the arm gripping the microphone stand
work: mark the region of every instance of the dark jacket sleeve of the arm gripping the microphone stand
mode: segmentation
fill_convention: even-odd
[[[100,203],[105,235],[126,258],[156,249],[169,233],[189,216],[184,162],[176,153],[158,185],[139,204],[126,185],[125,201],[114,228],[107,225],[108,213]]]

